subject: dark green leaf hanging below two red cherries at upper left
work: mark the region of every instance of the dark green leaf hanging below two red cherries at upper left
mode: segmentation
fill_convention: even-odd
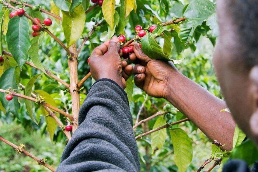
[[[29,22],[25,16],[14,16],[10,19],[5,41],[8,50],[21,68],[28,58],[30,48]]]

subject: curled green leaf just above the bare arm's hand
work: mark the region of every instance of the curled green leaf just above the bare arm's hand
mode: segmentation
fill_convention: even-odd
[[[162,48],[157,44],[155,39],[151,36],[150,33],[147,33],[141,40],[141,49],[152,59],[162,59],[162,60],[170,60],[169,56],[164,54]]]

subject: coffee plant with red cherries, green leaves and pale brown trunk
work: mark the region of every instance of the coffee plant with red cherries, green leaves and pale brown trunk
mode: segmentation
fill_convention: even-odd
[[[150,58],[173,61],[184,75],[222,98],[210,59],[183,55],[184,50],[196,51],[200,37],[215,45],[218,25],[212,1],[0,0],[1,120],[40,130],[53,144],[69,141],[94,82],[90,53],[114,35],[119,36],[123,60],[133,52],[131,43],[138,42]],[[200,168],[191,165],[198,128],[173,105],[136,88],[133,77],[125,91],[142,171],[200,171],[213,162],[207,169],[211,171],[231,156],[220,149],[223,143],[214,141],[211,156],[204,157]],[[244,138],[236,127],[234,147]],[[0,140],[44,170],[55,171],[51,161],[27,152],[23,143],[13,144],[15,140],[2,136]]]

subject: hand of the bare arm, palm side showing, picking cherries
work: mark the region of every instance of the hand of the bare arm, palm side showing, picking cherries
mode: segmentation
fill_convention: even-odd
[[[178,72],[172,62],[153,60],[143,53],[138,43],[134,44],[134,53],[129,60],[134,62],[134,83],[148,95],[157,98],[168,97],[168,84],[173,74]]]

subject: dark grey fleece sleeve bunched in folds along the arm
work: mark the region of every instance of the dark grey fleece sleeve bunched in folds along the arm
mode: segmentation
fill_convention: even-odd
[[[79,112],[79,127],[57,171],[139,171],[127,95],[110,79],[96,81]]]

